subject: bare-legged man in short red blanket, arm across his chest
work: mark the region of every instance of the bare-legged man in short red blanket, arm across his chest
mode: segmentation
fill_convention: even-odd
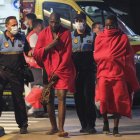
[[[34,50],[34,58],[40,65],[44,65],[48,80],[58,76],[54,85],[58,97],[59,136],[67,136],[64,131],[66,92],[74,92],[75,68],[71,59],[72,40],[71,32],[60,25],[60,16],[52,13],[49,26],[45,28],[38,38]],[[52,129],[47,134],[58,132],[55,110],[54,94],[50,94],[47,104]]]

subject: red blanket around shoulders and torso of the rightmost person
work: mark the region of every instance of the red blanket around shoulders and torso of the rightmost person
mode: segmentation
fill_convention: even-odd
[[[97,78],[126,79],[133,91],[139,89],[134,52],[128,37],[119,29],[105,29],[95,40]]]

